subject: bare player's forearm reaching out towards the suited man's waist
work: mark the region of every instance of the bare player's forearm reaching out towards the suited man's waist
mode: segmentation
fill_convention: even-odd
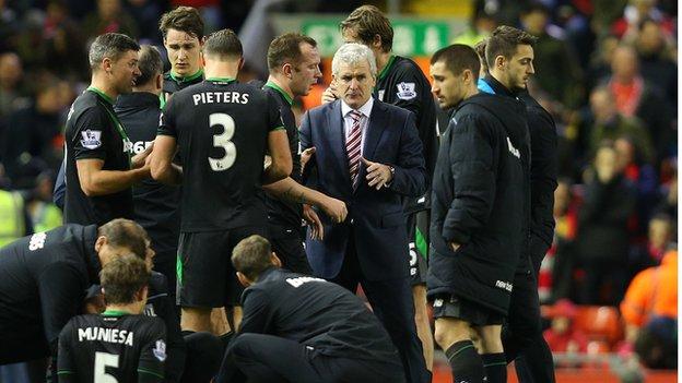
[[[291,177],[263,185],[263,189],[282,201],[317,206],[325,211],[334,222],[343,222],[348,214],[343,201],[320,193],[317,190],[306,188]]]

